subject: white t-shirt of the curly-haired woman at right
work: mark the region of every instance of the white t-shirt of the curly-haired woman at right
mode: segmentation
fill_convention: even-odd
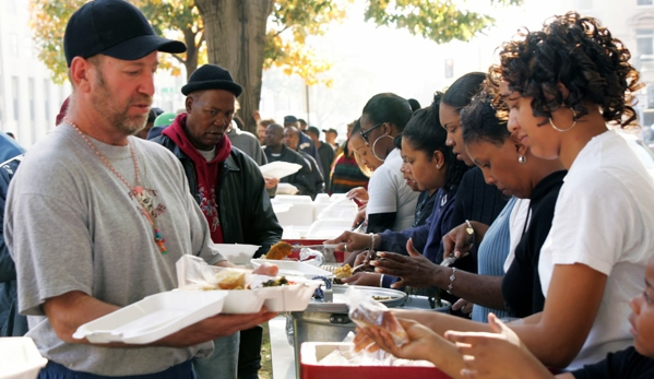
[[[556,264],[583,263],[608,276],[593,328],[568,369],[633,344],[629,300],[643,291],[653,227],[654,182],[643,164],[616,132],[593,138],[566,176],[538,262],[546,298]]]

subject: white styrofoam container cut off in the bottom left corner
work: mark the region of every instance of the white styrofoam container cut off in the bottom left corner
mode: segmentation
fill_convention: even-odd
[[[34,379],[47,364],[32,339],[0,337],[0,379]]]

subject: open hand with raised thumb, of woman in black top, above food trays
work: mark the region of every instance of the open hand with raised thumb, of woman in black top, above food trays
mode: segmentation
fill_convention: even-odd
[[[411,238],[406,242],[406,250],[409,257],[378,251],[377,256],[382,259],[371,261],[370,265],[373,265],[374,271],[381,274],[401,277],[399,282],[393,283],[392,288],[401,288],[407,285],[416,288],[430,286],[431,279],[436,276],[435,272],[439,267],[416,251]]]

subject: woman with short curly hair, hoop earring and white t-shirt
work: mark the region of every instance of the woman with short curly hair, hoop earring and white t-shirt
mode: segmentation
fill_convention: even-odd
[[[497,336],[512,342],[519,337],[547,366],[580,369],[633,343],[629,300],[642,292],[645,264],[654,251],[654,183],[626,141],[607,127],[635,120],[632,99],[641,85],[629,58],[620,40],[596,20],[571,12],[549,21],[543,31],[524,32],[506,43],[500,64],[490,69],[490,84],[510,109],[509,129],[534,155],[559,159],[569,170],[540,250],[545,309],[507,324],[512,337]],[[459,368],[467,370],[466,377],[497,377],[512,367],[510,358],[484,359],[497,350],[480,353],[459,345],[475,356],[464,364],[462,355],[452,353],[456,346],[440,337],[447,330],[497,329],[447,315],[397,316],[436,332],[438,339],[430,341],[450,357],[451,372],[461,375]],[[454,343],[477,343],[466,333],[447,336]],[[364,340],[358,337],[359,344]],[[385,346],[381,340],[378,344]],[[401,356],[411,355],[408,346],[401,350]]]

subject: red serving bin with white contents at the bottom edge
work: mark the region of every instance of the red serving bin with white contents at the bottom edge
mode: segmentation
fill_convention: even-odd
[[[399,379],[429,378],[451,379],[436,367],[425,366],[324,366],[316,362],[345,343],[338,342],[305,342],[300,350],[300,379]],[[313,355],[314,354],[314,355]],[[436,353],[435,353],[436,354]]]

